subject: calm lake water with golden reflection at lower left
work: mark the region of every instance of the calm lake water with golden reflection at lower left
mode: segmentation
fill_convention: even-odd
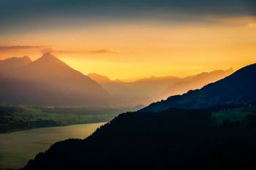
[[[35,128],[0,134],[0,169],[21,168],[38,152],[47,150],[51,144],[70,138],[84,139],[104,124]]]

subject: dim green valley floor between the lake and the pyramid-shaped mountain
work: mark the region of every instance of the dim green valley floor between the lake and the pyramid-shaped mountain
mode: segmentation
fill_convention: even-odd
[[[0,106],[0,133],[31,128],[108,122],[121,112],[141,107],[3,107]]]

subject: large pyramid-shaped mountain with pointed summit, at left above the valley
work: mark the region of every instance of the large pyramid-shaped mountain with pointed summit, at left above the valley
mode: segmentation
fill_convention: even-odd
[[[1,104],[95,106],[111,104],[108,92],[50,53],[0,77]]]

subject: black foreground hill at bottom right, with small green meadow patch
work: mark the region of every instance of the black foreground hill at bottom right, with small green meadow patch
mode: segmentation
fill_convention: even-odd
[[[87,139],[53,144],[23,170],[256,169],[255,114],[255,105],[236,104],[124,113]]]

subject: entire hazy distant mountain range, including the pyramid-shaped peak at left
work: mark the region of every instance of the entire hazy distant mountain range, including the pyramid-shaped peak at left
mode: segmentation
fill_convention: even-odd
[[[148,77],[122,82],[95,73],[83,75],[50,53],[36,61],[28,56],[7,58],[0,61],[0,104],[134,107],[202,88],[232,72],[229,69],[184,78]]]

